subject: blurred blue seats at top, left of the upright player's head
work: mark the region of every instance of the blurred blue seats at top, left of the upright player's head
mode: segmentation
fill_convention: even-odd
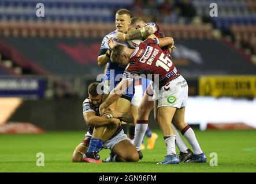
[[[45,14],[42,21],[92,21],[112,22],[113,9],[127,8],[132,0],[125,1],[47,1],[43,0]],[[36,21],[36,4],[33,0],[5,0],[0,2],[0,20],[2,21]]]

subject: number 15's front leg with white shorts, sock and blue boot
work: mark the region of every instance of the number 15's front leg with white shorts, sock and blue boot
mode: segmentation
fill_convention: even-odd
[[[159,164],[169,164],[172,160],[179,160],[175,150],[175,132],[170,125],[176,110],[183,105],[185,94],[187,94],[187,82],[183,76],[178,76],[165,86],[162,86],[159,91],[154,89],[154,95],[158,97],[157,101],[157,122],[164,135],[167,146],[167,156],[165,160]],[[173,162],[175,163],[175,162]],[[179,161],[177,162],[179,163]]]

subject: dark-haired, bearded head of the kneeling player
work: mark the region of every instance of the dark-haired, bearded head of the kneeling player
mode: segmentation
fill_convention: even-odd
[[[103,85],[102,83],[93,82],[88,86],[88,94],[91,104],[94,108],[98,108],[101,105],[102,95],[103,95]]]

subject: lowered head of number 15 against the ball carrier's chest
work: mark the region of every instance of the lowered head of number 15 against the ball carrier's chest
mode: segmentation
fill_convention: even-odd
[[[114,46],[111,52],[111,61],[113,63],[127,65],[129,63],[130,58],[129,53],[127,52],[128,49],[128,47],[125,47],[121,44],[117,44],[116,46]]]

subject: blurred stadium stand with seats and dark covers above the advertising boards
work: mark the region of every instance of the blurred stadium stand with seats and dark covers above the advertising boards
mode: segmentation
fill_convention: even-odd
[[[255,1],[216,0],[218,17],[212,18],[210,0],[40,2],[44,17],[36,16],[38,1],[0,1],[0,53],[12,61],[9,68],[1,63],[1,74],[102,73],[99,44],[115,29],[114,13],[121,8],[158,22],[174,37],[173,58],[184,75],[256,73]]]

